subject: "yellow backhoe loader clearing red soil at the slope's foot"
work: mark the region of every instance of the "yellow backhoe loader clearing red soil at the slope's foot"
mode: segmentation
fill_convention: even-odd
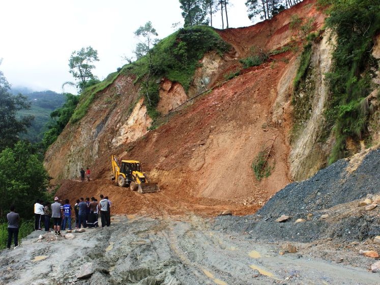
[[[112,163],[112,180],[115,185],[127,187],[139,193],[158,192],[161,191],[158,184],[149,182],[147,175],[141,172],[140,162],[136,160],[122,160],[119,166],[118,159],[114,155],[111,156]]]

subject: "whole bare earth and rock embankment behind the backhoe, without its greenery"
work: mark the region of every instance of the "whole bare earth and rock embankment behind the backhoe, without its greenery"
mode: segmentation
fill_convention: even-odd
[[[147,130],[151,119],[134,78],[119,75],[96,94],[85,117],[69,124],[46,153],[45,165],[55,179],[75,179],[80,167],[93,170],[95,181],[81,184],[65,180],[57,194],[72,201],[78,196],[108,194],[119,213],[154,214],[162,207],[170,213],[203,214],[222,209],[245,214],[258,209],[295,177],[288,161],[288,134],[298,52],[280,52],[269,62],[244,69],[223,83],[224,75],[241,69],[239,59],[249,50],[269,53],[290,42],[299,45],[294,41],[298,31],[289,29],[292,13],[301,18],[313,15],[313,29],[323,24],[324,16],[313,2],[304,1],[272,20],[218,31],[233,50],[222,58],[207,54],[188,94],[180,84],[163,79],[159,109],[167,113],[199,91],[213,90],[165,117],[167,123],[157,130]],[[323,48],[323,43],[315,45]],[[272,174],[258,182],[251,163],[273,138]],[[163,191],[140,195],[113,186],[108,180],[111,154],[140,160]]]

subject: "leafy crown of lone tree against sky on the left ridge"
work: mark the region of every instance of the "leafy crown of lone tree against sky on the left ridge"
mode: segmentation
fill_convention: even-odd
[[[94,79],[97,80],[96,76],[92,73],[92,70],[95,68],[93,63],[98,61],[98,51],[93,49],[91,46],[87,46],[85,48],[82,47],[80,50],[72,52],[69,59],[69,72],[78,81],[74,84],[80,91],[85,89],[86,82]]]

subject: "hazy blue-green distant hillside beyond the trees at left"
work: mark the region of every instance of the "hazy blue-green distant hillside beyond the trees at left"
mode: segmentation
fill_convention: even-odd
[[[15,93],[15,90],[12,92]],[[31,101],[32,105],[30,110],[19,111],[17,115],[20,117],[33,115],[35,119],[32,126],[28,128],[28,132],[21,134],[20,137],[31,141],[31,143],[37,143],[41,141],[43,133],[47,130],[46,123],[51,120],[50,113],[65,103],[65,96],[54,91],[22,94]]]

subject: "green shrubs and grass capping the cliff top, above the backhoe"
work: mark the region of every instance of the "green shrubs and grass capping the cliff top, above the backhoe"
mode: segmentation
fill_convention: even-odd
[[[151,30],[151,27],[148,28]],[[154,120],[155,128],[160,117],[156,109],[159,102],[158,81],[166,77],[173,82],[181,83],[187,91],[204,54],[212,50],[223,54],[230,46],[208,26],[185,27],[161,40],[153,48],[146,49],[149,45],[145,41],[147,53],[142,55],[143,53],[139,52],[138,60],[124,66],[121,72],[136,75],[135,82],[141,84],[141,95],[147,99],[145,105],[149,116]],[[139,50],[136,47],[136,51]]]

